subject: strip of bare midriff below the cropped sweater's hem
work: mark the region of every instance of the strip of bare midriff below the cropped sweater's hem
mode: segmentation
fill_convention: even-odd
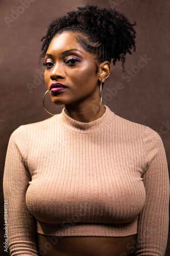
[[[132,256],[136,234],[128,237],[51,237],[37,233],[39,255]]]

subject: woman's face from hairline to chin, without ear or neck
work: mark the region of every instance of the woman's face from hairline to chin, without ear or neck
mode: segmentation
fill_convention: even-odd
[[[75,35],[74,32],[57,35],[46,52],[45,84],[57,105],[86,105],[100,97],[100,73],[96,74],[94,57],[79,45]],[[66,89],[51,92],[54,83],[61,83]]]

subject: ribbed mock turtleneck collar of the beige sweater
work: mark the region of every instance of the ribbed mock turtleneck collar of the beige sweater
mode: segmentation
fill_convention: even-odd
[[[106,108],[106,111],[103,116],[88,123],[79,122],[75,119],[72,119],[65,113],[65,108],[62,109],[62,112],[60,114],[56,115],[57,121],[67,130],[70,130],[72,132],[83,134],[99,132],[108,127],[108,125],[113,121],[115,116],[115,114],[108,108],[107,105],[104,106]]]

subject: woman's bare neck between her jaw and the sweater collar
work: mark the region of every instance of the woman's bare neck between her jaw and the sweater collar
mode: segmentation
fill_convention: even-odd
[[[102,103],[102,108],[100,109],[100,104],[96,104],[95,102],[90,102],[90,104],[84,106],[78,106],[77,104],[69,104],[65,105],[65,113],[79,122],[92,122],[105,113],[106,109],[104,104]]]

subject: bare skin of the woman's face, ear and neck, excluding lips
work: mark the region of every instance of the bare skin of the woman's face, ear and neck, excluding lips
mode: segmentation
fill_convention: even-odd
[[[65,113],[80,122],[91,122],[105,113],[104,104],[100,110],[100,84],[104,82],[111,72],[109,61],[99,65],[96,74],[94,57],[86,52],[75,38],[76,33],[63,32],[51,41],[45,56],[45,62],[50,62],[44,72],[44,79],[52,102],[56,105],[65,105]],[[69,49],[78,51],[69,52],[63,56],[62,52]],[[79,61],[67,61],[68,58],[77,58]],[[66,90],[56,95],[50,92],[52,83],[60,82],[67,86]],[[94,111],[95,106],[95,111]]]

